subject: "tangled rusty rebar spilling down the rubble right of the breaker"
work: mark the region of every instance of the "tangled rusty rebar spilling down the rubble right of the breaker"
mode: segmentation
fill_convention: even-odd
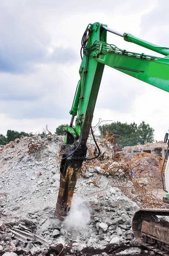
[[[98,184],[101,177],[103,175],[110,175],[111,186],[119,188],[140,207],[162,207],[164,204],[162,200],[158,198],[158,189],[153,185],[153,179],[150,176],[150,171],[141,167],[139,163],[135,162],[135,159],[132,160],[124,157],[121,152],[118,152],[115,147],[117,139],[115,139],[114,136],[117,135],[108,133],[106,130],[106,135],[104,138],[98,140],[99,147],[106,148],[106,153],[104,152],[102,157],[99,157],[99,159],[94,159],[83,163],[81,169],[82,175],[85,176],[87,169],[99,166],[103,170],[102,173],[95,175],[90,183],[93,183],[95,186],[101,188]],[[87,146],[89,156],[93,157],[94,153],[91,145],[88,144]],[[143,172],[146,172],[146,177],[142,177]],[[148,183],[146,183],[147,186],[144,186],[144,180],[146,179],[148,180]],[[110,180],[108,184],[109,186]]]

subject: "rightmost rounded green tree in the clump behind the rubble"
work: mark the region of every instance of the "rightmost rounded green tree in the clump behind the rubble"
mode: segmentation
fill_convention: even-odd
[[[146,144],[153,143],[154,141],[154,129],[149,126],[149,124],[145,124],[144,121],[138,125],[137,130],[137,140],[138,144]]]

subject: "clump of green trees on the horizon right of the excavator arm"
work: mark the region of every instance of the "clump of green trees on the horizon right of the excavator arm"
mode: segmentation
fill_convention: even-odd
[[[154,129],[152,129],[149,124],[141,122],[140,125],[137,125],[135,122],[131,124],[121,123],[121,122],[112,122],[111,124],[100,125],[99,132],[103,135],[106,134],[106,128],[109,133],[115,135],[121,135],[123,141],[118,137],[118,142],[121,148],[125,146],[134,146],[138,144],[152,143],[154,141]]]

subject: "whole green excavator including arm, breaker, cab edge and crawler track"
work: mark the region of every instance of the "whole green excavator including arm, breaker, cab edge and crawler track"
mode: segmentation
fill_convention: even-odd
[[[165,57],[156,57],[144,53],[129,52],[107,43],[107,32],[122,37],[125,41],[158,52]],[[99,157],[100,149],[92,130],[93,112],[99,92],[104,65],[110,66],[129,76],[144,81],[161,90],[169,92],[169,48],[160,47],[137,38],[129,33],[117,32],[105,24],[89,24],[82,36],[82,62],[79,68],[80,80],[77,84],[70,125],[65,131],[64,144],[61,147],[60,187],[56,203],[55,217],[64,220],[70,211],[74,188],[83,161]],[[73,126],[76,116],[75,125]],[[98,148],[95,157],[86,157],[87,138],[91,133]],[[165,136],[168,143],[168,134]],[[167,150],[168,151],[168,150]],[[166,153],[167,153],[166,151]],[[169,160],[165,169],[166,197],[169,203]],[[135,238],[148,249],[169,256],[169,222],[161,221],[158,216],[169,216],[169,209],[140,209],[132,220]]]

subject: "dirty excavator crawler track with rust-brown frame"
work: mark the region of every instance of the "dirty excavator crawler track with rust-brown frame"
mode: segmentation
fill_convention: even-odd
[[[169,209],[140,209],[132,219],[132,232],[138,242],[163,256],[169,256],[169,222],[158,216],[169,216]]]

